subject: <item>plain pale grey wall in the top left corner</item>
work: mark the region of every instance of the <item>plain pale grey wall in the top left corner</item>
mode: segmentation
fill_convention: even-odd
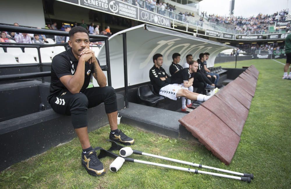
[[[45,27],[45,15],[42,1],[39,0],[1,0],[0,23],[20,26]]]

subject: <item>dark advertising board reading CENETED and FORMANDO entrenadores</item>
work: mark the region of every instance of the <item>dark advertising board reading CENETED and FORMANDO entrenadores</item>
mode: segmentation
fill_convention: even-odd
[[[80,4],[118,15],[137,19],[138,8],[114,0],[80,0]]]

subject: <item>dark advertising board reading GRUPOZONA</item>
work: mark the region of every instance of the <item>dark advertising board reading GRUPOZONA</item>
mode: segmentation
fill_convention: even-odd
[[[139,9],[139,20],[158,24],[161,26],[171,27],[171,19],[144,9]]]

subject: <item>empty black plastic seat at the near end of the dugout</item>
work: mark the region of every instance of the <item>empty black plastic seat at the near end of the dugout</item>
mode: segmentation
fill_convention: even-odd
[[[165,97],[162,97],[160,95],[154,94],[154,89],[152,85],[143,85],[140,86],[137,90],[139,98],[142,101],[147,102],[148,104],[157,104],[159,101],[162,101],[165,99]]]

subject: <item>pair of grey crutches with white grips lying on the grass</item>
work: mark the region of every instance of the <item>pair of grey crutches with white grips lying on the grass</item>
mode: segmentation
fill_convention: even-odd
[[[155,165],[155,166],[158,166],[158,167],[165,167],[165,168],[175,169],[175,170],[180,170],[180,171],[193,172],[193,173],[196,173],[196,174],[198,174],[198,173],[199,174],[209,174],[209,175],[212,175],[212,176],[219,176],[219,177],[223,177],[223,178],[229,178],[229,179],[236,179],[236,180],[240,180],[240,181],[245,181],[245,182],[248,182],[248,183],[250,183],[251,179],[253,179],[253,174],[239,173],[239,172],[235,172],[235,171],[219,169],[219,168],[216,168],[216,167],[210,167],[210,166],[206,166],[206,165],[201,165],[201,164],[197,164],[197,163],[191,163],[191,162],[177,160],[177,159],[173,159],[173,158],[157,156],[157,155],[154,155],[154,154],[148,154],[148,153],[145,153],[145,152],[142,152],[142,151],[133,150],[133,149],[131,149],[131,147],[123,147],[123,146],[117,144],[113,140],[109,140],[109,141],[111,142],[111,148],[108,150],[109,153],[113,154],[111,151],[119,150],[119,153],[120,153],[120,156],[121,156],[120,157],[120,156],[115,154],[116,155],[115,156],[116,159],[109,166],[109,169],[112,172],[117,172],[120,169],[120,167],[123,165],[123,163],[125,161],[127,161],[127,162],[134,162],[134,163],[143,163],[143,164],[147,164],[147,165]],[[224,173],[228,173],[228,174],[234,174],[234,175],[238,175],[238,176],[232,176],[232,175],[227,175],[227,174],[219,174],[219,173],[213,173],[213,172],[207,172],[207,171],[200,171],[200,170],[191,169],[191,168],[178,167],[178,166],[173,166],[173,165],[165,165],[165,164],[161,164],[161,163],[154,163],[154,162],[149,162],[149,161],[137,160],[137,159],[133,159],[133,158],[127,158],[127,156],[130,156],[132,154],[138,154],[138,155],[149,156],[149,157],[153,157],[153,158],[159,158],[159,159],[163,159],[163,160],[167,160],[167,161],[172,161],[172,162],[175,162],[175,163],[181,163],[181,164],[190,165],[190,166],[193,166],[193,167],[216,170],[216,171],[220,171],[220,172],[224,172]],[[113,156],[111,156],[111,157],[113,157]]]

